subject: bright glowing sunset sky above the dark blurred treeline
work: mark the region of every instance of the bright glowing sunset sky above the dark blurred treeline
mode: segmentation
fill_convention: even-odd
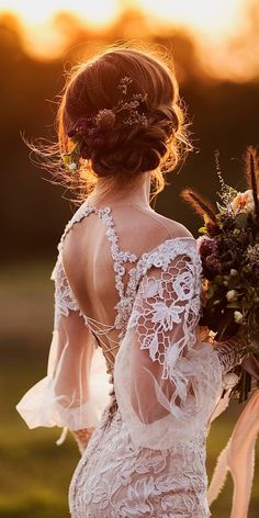
[[[182,27],[191,33],[202,66],[212,75],[247,80],[258,71],[258,0],[0,0],[14,13],[24,45],[38,58],[57,57],[67,44],[56,15],[69,12],[94,32],[111,26],[126,9],[143,12],[154,33]],[[255,10],[257,19],[249,16]],[[144,35],[145,37],[145,35]]]

